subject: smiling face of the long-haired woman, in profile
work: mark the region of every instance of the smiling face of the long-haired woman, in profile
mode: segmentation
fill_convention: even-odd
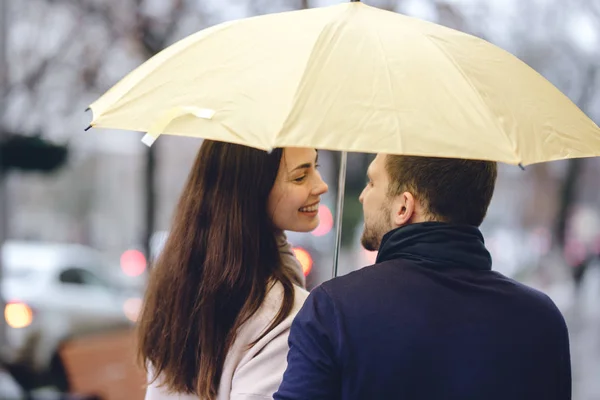
[[[319,202],[328,187],[317,170],[317,159],[315,149],[283,150],[267,205],[276,228],[310,232],[319,226]]]

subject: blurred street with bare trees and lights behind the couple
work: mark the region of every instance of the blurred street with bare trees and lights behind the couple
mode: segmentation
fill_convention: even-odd
[[[199,29],[340,2],[0,0],[0,399],[143,398],[131,329],[200,141],[84,132],[87,106]],[[365,3],[489,40],[600,123],[600,0]],[[349,155],[339,274],[374,261],[358,202],[372,157]],[[288,235],[309,288],[332,274],[339,154],[319,158],[321,225]],[[482,227],[494,269],[564,313],[575,400],[600,400],[599,175],[600,159],[501,165]]]

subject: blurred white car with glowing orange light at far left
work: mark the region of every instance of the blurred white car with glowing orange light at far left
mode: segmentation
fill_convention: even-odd
[[[61,345],[85,334],[131,327],[131,295],[102,277],[106,261],[85,246],[8,241],[1,255],[2,359],[25,389],[51,385],[66,391]]]

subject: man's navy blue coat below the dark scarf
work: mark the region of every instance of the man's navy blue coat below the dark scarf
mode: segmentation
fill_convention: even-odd
[[[410,257],[408,257],[410,258]],[[315,289],[276,399],[569,399],[552,301],[501,274],[391,259]]]

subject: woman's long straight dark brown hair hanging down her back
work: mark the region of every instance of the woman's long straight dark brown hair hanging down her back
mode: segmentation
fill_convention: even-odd
[[[235,333],[270,282],[283,284],[284,300],[264,334],[292,309],[292,276],[267,212],[282,154],[202,143],[138,322],[140,362],[172,392],[216,397]]]

